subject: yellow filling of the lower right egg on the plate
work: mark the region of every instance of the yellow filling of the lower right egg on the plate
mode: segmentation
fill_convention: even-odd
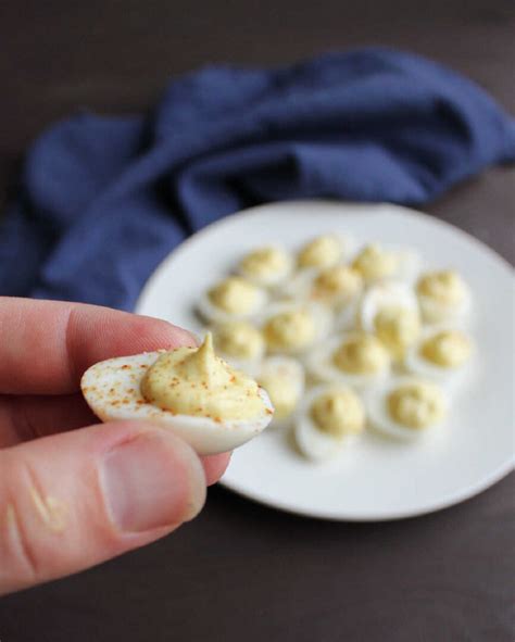
[[[406,428],[423,429],[445,414],[441,391],[432,383],[406,383],[390,392],[387,400],[392,419]]]

